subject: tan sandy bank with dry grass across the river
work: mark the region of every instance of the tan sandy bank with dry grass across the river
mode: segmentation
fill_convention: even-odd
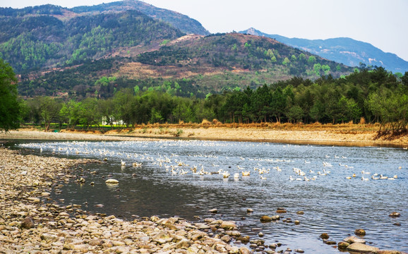
[[[375,139],[374,128],[357,125],[308,125],[280,126],[280,128],[251,126],[189,126],[189,125],[148,125],[137,128],[107,131],[43,132],[20,129],[0,133],[0,139],[51,139],[51,140],[146,140],[148,138],[191,138],[202,140],[243,140],[280,143],[308,143],[327,145],[394,145],[408,146],[408,135],[392,140]]]

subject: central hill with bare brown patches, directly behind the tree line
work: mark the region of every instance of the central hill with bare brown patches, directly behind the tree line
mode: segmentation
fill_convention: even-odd
[[[111,97],[122,88],[205,97],[279,80],[337,78],[354,71],[267,37],[239,33],[186,35],[133,57],[111,56],[77,66],[21,75],[20,95]]]

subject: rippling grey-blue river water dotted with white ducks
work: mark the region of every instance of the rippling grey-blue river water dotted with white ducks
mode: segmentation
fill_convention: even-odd
[[[244,235],[258,238],[260,230],[265,243],[280,242],[280,249],[306,253],[338,253],[320,234],[338,242],[361,228],[371,246],[408,251],[408,150],[402,148],[203,140],[27,141],[17,146],[36,154],[41,147],[42,156],[107,158],[104,164],[83,167],[85,184],[72,181],[54,194],[64,205],[88,202],[84,209],[90,212],[128,219],[136,214],[234,220]],[[141,167],[133,167],[133,162]],[[228,178],[222,175],[225,171]],[[250,176],[242,176],[242,171],[250,171]],[[380,175],[394,180],[371,179]],[[119,184],[107,185],[108,178]],[[292,223],[260,222],[263,215],[275,215],[278,207],[287,210],[281,216]],[[210,214],[212,208],[218,213]],[[248,208],[253,212],[247,213]],[[394,211],[401,217],[388,217]]]

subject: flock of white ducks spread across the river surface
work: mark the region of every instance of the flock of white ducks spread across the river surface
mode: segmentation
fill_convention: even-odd
[[[146,141],[149,142],[149,141]],[[160,141],[157,141],[160,143]],[[166,142],[166,141],[164,141]],[[122,141],[126,144],[127,141]],[[324,179],[325,177],[330,177],[333,173],[342,172],[344,175],[344,170],[347,170],[349,176],[346,176],[346,179],[361,179],[361,181],[370,181],[370,180],[396,180],[398,179],[397,175],[394,176],[385,176],[379,173],[371,173],[366,170],[357,171],[353,166],[349,166],[342,162],[339,163],[339,166],[333,166],[330,162],[331,156],[325,155],[325,161],[320,162],[310,162],[304,160],[304,162],[295,162],[290,159],[262,159],[262,158],[245,158],[245,157],[233,157],[234,159],[231,163],[228,163],[229,157],[218,158],[217,155],[188,155],[182,156],[186,162],[179,159],[179,155],[174,153],[168,155],[148,155],[147,153],[139,154],[135,152],[123,152],[126,150],[126,145],[124,145],[123,151],[118,151],[114,147],[109,147],[112,143],[104,143],[95,147],[89,145],[89,142],[66,142],[59,143],[57,146],[55,143],[30,143],[22,144],[29,147],[39,147],[40,153],[43,151],[43,147],[47,150],[51,150],[52,153],[58,153],[60,155],[93,155],[98,157],[103,157],[104,160],[116,159],[117,157],[121,159],[122,169],[126,168],[126,163],[131,165],[134,168],[140,168],[143,166],[143,163],[152,164],[157,168],[164,169],[168,174],[172,176],[183,176],[183,175],[193,175],[193,176],[209,176],[209,175],[220,175],[222,179],[234,179],[239,181],[240,179],[248,178],[258,178],[261,181],[268,179],[276,179],[277,177],[287,177],[289,175],[288,181],[316,181],[319,179]],[[95,143],[94,143],[95,144]],[[131,144],[127,144],[131,146]],[[164,148],[163,145],[158,145],[161,148]],[[116,147],[117,148],[117,147]],[[157,149],[157,151],[162,151]],[[334,158],[337,162],[343,161],[347,162],[347,157],[337,156]],[[124,160],[125,159],[125,160]],[[207,159],[207,160],[206,160]],[[212,162],[222,162],[224,165],[220,166],[219,164],[210,163],[204,164],[204,162],[212,159]],[[244,163],[244,161],[246,161]],[[197,164],[194,164],[198,162]],[[239,163],[242,162],[242,163]],[[240,164],[235,166],[225,166],[225,164]],[[296,167],[293,167],[292,163],[296,163]],[[251,165],[251,166],[249,166]],[[402,167],[399,167],[402,169]],[[283,171],[283,173],[281,173]],[[274,173],[274,174],[271,174]],[[136,173],[135,173],[136,174]],[[133,175],[135,175],[133,174]],[[335,174],[339,176],[339,174]]]

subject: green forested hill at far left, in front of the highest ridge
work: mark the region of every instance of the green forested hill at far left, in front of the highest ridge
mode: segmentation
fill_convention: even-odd
[[[17,73],[78,64],[118,52],[131,56],[184,35],[134,10],[70,16],[61,21],[66,9],[40,7],[26,10],[22,16],[0,16],[0,57]],[[10,12],[3,8],[0,14],[6,11]],[[33,15],[32,11],[44,14]]]

